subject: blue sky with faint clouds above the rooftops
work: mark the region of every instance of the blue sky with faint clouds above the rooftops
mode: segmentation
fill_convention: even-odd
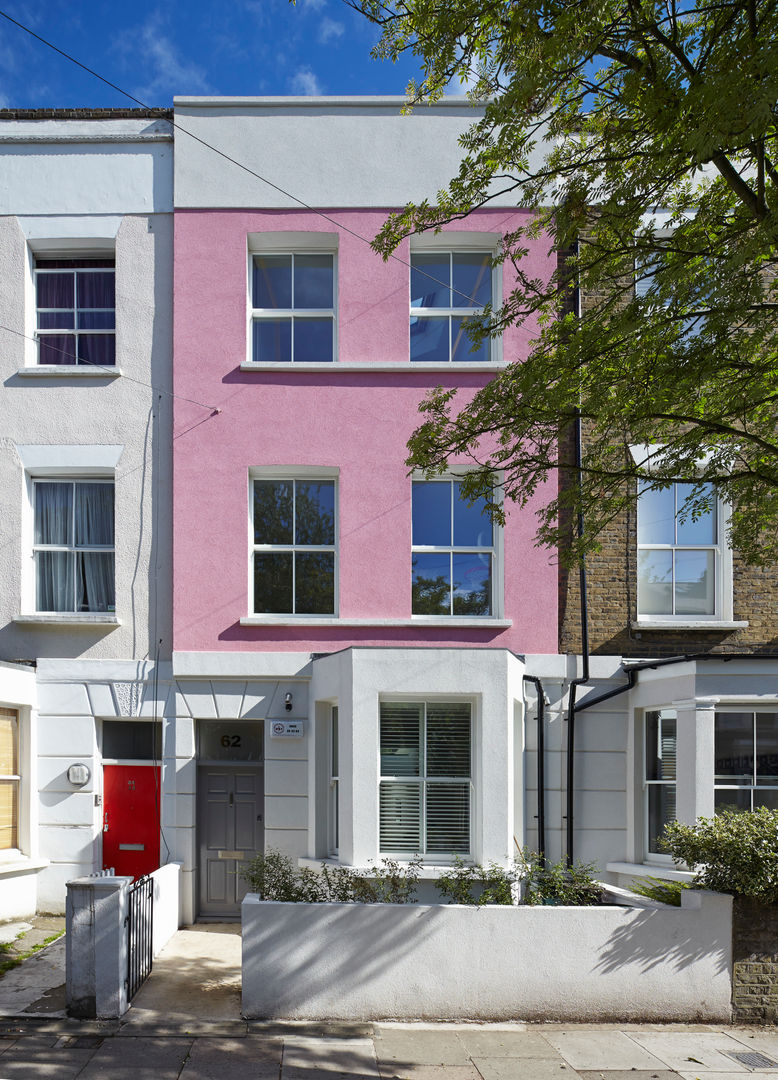
[[[39,0],[0,9],[147,105],[174,94],[402,94],[411,58],[372,59],[378,30],[343,0]],[[0,107],[132,105],[0,19]]]

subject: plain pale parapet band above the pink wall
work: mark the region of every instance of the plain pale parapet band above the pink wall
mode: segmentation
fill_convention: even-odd
[[[459,171],[480,110],[444,98],[402,116],[404,97],[175,98],[176,124],[312,206],[404,206]],[[326,170],[316,162],[326,161]],[[283,191],[176,137],[176,207],[299,206]],[[515,197],[493,205],[515,206]],[[335,214],[337,217],[337,214]]]

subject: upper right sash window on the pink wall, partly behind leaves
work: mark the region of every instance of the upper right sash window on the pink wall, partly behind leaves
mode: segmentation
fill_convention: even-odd
[[[439,364],[492,359],[492,342],[473,349],[468,321],[492,302],[488,252],[416,252],[411,255],[411,360]]]

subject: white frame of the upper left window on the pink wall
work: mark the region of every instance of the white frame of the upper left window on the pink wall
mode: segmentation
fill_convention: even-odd
[[[289,255],[292,257],[292,288],[294,291],[294,258],[297,255],[330,255],[333,260],[333,306],[332,308],[295,308],[294,292],[291,308],[255,308],[254,307],[254,256]],[[247,327],[246,327],[246,363],[252,367],[269,370],[294,367],[297,370],[311,368],[319,370],[336,364],[338,361],[338,235],[334,232],[265,232],[249,234],[247,261]],[[294,323],[295,319],[332,319],[332,362],[330,361],[296,361],[294,359]],[[254,356],[254,323],[261,320],[290,319],[292,323],[292,349],[290,361],[263,361]]]

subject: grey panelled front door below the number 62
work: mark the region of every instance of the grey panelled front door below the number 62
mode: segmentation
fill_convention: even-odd
[[[200,915],[240,916],[247,892],[241,868],[264,847],[264,794],[261,767],[198,770]]]

